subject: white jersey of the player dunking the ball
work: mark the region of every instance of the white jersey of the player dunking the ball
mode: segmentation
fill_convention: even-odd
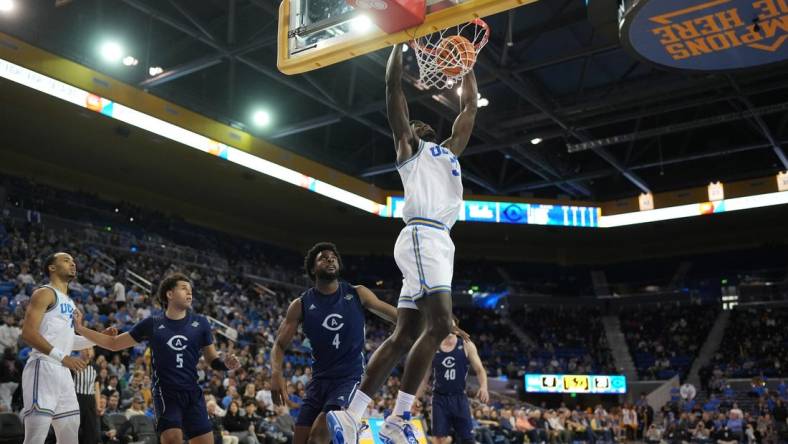
[[[405,188],[405,222],[427,219],[450,229],[462,210],[462,170],[457,156],[448,148],[419,140],[419,149],[397,170]]]

